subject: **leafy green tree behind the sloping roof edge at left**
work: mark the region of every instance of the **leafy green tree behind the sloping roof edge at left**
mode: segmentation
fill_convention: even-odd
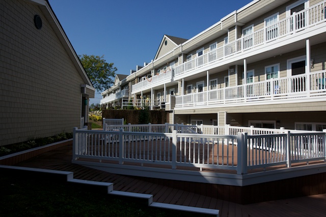
[[[103,57],[104,55],[79,55],[80,62],[82,63],[86,74],[98,92],[102,92],[111,87],[113,84],[113,78],[115,77],[115,72],[117,71],[117,68],[113,67],[113,63],[106,63]]]

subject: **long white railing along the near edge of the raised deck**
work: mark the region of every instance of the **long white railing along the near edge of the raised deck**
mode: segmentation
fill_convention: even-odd
[[[233,135],[88,131],[74,128],[73,160],[78,158],[236,170],[326,158],[325,132]]]

